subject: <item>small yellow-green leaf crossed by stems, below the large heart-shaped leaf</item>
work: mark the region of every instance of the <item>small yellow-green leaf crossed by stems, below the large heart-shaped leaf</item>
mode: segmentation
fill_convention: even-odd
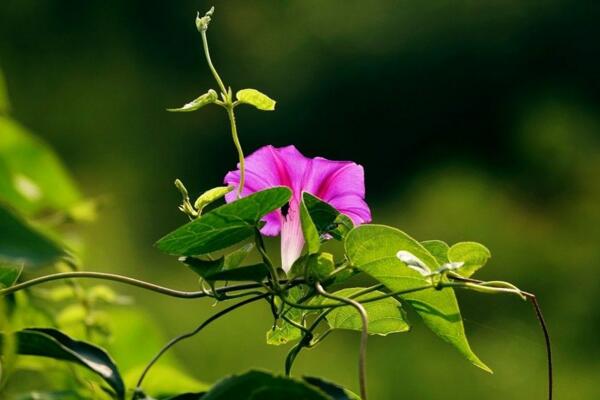
[[[347,288],[333,293],[340,297],[350,297],[363,288]],[[384,294],[380,291],[373,291],[364,296],[360,296],[357,301],[368,300],[373,297]],[[320,304],[337,304],[338,301],[319,297],[316,301]],[[368,332],[371,335],[386,336],[390,333],[407,332],[410,326],[404,319],[401,311],[401,305],[398,300],[388,297],[382,300],[365,303],[363,307],[367,311],[369,321]],[[327,315],[327,323],[333,329],[347,329],[352,331],[362,331],[362,320],[360,314],[352,306],[342,306],[334,308]]]

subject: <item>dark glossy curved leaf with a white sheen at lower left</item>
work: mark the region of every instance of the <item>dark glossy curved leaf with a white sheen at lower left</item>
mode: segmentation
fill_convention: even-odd
[[[119,370],[101,348],[91,343],[73,340],[64,333],[50,328],[24,329],[17,332],[16,336],[18,354],[79,364],[102,377],[119,399],[125,398],[125,385]],[[4,341],[4,334],[0,335],[0,341]]]

